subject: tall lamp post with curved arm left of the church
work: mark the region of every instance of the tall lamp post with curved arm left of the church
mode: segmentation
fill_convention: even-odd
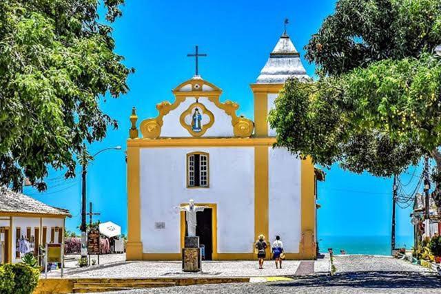
[[[106,150],[121,150],[121,146],[116,146],[116,147],[108,147],[105,149],[101,149],[100,151],[96,152],[96,154],[92,155],[91,158],[95,158],[95,156],[97,156],[98,154],[100,154],[103,151]],[[85,175],[87,174],[87,165],[88,165],[88,158],[87,158],[87,154],[86,154],[86,147],[85,144],[83,145],[83,158],[82,158],[82,162],[81,162],[81,166],[82,166],[82,172],[81,172],[81,180],[82,180],[82,185],[81,185],[81,263],[80,264],[85,264],[87,263],[87,258],[88,258],[88,249],[87,249],[87,245],[86,245],[86,222],[85,222],[85,216],[86,216],[86,211],[85,211],[85,204],[86,204],[86,197],[85,197]],[[85,261],[85,262],[83,262]]]

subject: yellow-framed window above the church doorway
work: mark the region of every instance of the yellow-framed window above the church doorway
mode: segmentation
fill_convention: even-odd
[[[187,187],[209,186],[209,157],[204,152],[187,154]]]

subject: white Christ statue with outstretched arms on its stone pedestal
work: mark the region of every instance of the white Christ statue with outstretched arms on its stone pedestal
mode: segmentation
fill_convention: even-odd
[[[194,200],[190,199],[188,205],[176,208],[185,211],[185,218],[187,219],[188,236],[185,236],[184,248],[182,249],[182,270],[201,271],[202,257],[199,237],[196,236],[196,212],[204,211],[208,207],[196,206]]]

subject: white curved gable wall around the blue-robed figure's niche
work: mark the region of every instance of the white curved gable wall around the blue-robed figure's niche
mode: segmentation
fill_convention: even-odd
[[[181,103],[176,109],[169,112],[163,117],[163,126],[161,127],[161,137],[192,137],[191,134],[185,129],[181,123],[181,114],[188,109],[190,105],[196,102],[194,97],[186,97],[185,101]],[[200,97],[199,103],[202,103],[207,109],[214,115],[214,124],[207,129],[207,132],[203,134],[203,137],[233,137],[232,117],[225,113],[223,109],[218,108],[212,101],[209,101],[207,97]],[[202,125],[206,125],[209,122],[207,115],[202,116]],[[187,123],[191,123],[187,121]]]

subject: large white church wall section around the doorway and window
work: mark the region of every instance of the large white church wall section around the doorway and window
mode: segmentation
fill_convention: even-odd
[[[187,188],[186,155],[209,154],[209,188]],[[179,253],[180,213],[190,198],[217,204],[218,253],[251,253],[254,242],[254,147],[141,149],[141,240],[144,253]],[[130,213],[130,211],[129,211]],[[155,229],[165,222],[165,229]]]

